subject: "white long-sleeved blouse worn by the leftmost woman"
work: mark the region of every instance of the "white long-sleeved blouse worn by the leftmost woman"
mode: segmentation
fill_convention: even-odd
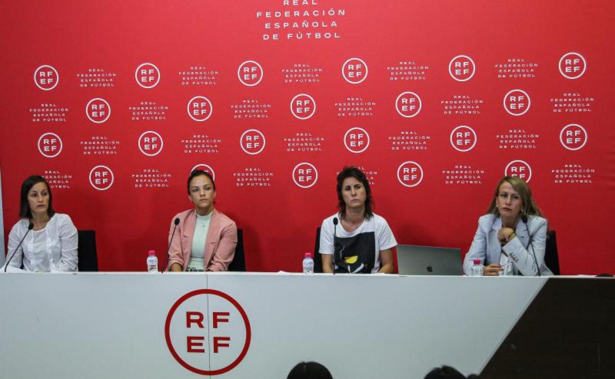
[[[28,232],[28,219],[20,219],[9,233],[6,259]],[[77,271],[77,229],[68,214],[56,213],[44,229],[31,230],[10,261],[11,267],[34,272]]]

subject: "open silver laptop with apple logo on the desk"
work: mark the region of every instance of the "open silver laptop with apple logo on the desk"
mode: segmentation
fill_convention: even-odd
[[[397,245],[399,275],[463,275],[461,249]]]

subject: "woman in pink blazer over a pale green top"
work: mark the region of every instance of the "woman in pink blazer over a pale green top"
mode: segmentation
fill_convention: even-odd
[[[193,209],[173,216],[169,241],[170,271],[226,271],[235,255],[237,226],[213,208],[216,184],[206,171],[194,170],[188,177],[188,198]]]

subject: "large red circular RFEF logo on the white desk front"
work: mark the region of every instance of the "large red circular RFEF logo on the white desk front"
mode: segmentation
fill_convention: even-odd
[[[200,375],[229,372],[245,358],[252,340],[250,320],[230,295],[197,289],[173,303],[164,324],[173,358]]]

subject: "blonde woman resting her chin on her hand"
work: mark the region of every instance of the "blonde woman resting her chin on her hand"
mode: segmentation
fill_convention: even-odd
[[[478,229],[464,260],[470,275],[474,260],[485,265],[483,275],[553,275],[544,263],[547,220],[528,184],[504,176],[496,186],[487,213],[478,219]]]

